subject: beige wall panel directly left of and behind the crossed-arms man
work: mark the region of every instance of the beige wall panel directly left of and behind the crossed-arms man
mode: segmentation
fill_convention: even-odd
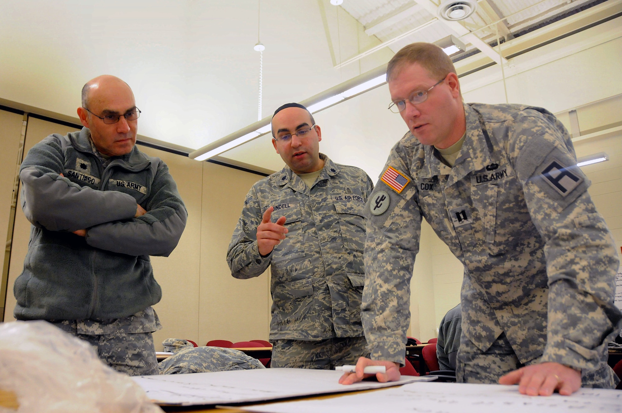
[[[42,141],[46,136],[53,133],[66,135],[77,129],[70,126],[63,126],[57,123],[42,121],[41,119],[29,118],[28,127],[26,129],[26,141],[24,142],[24,156],[38,142]],[[21,192],[21,185],[20,185]],[[20,193],[21,197],[21,193]],[[24,212],[21,208],[21,200],[17,200],[17,211],[15,214],[15,226],[13,230],[13,243],[11,246],[11,262],[9,264],[9,291],[6,295],[6,311],[4,321],[13,321],[13,309],[16,304],[13,295],[13,284],[16,278],[24,269],[24,258],[28,250],[28,241],[30,239],[30,223],[26,220]]]

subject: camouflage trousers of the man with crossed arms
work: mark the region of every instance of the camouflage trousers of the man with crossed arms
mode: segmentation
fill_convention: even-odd
[[[116,320],[50,321],[93,346],[104,363],[130,376],[158,374],[152,332],[162,328],[152,307]]]

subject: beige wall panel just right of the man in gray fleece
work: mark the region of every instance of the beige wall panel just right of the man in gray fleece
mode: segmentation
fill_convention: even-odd
[[[154,333],[154,341],[156,351],[162,351],[162,341],[166,338],[198,340],[203,168],[201,162],[185,156],[145,146],[139,149],[169,165],[188,210],[186,228],[177,248],[168,257],[151,257],[154,276],[162,287],[162,300],[154,305],[162,323],[162,330]]]

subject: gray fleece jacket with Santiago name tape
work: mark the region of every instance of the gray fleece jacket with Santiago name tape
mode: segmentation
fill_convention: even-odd
[[[33,226],[14,285],[17,319],[110,320],[159,302],[149,256],[168,256],[187,218],[162,160],[134,147],[103,167],[83,128],[36,144],[19,176]],[[137,203],[147,213],[134,218]]]

